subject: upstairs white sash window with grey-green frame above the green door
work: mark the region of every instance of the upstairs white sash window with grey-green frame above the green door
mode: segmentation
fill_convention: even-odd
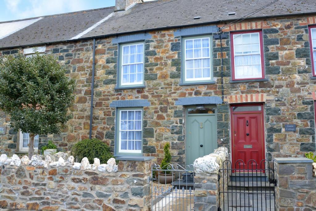
[[[212,46],[212,35],[182,38],[182,84],[213,81]]]

